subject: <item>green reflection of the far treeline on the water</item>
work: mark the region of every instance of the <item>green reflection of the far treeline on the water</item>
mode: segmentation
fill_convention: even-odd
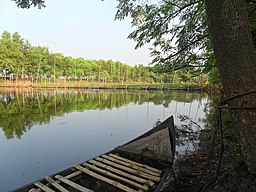
[[[104,110],[152,102],[168,105],[192,102],[201,97],[198,93],[126,90],[0,90],[0,128],[7,139],[20,138],[32,125],[48,123],[54,116],[85,110]]]

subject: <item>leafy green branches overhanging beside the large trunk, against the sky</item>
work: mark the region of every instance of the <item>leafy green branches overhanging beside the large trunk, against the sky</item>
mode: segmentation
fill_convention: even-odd
[[[209,54],[208,29],[203,1],[118,0],[116,19],[132,18],[135,31],[129,38],[141,47],[151,42],[151,55],[165,71],[196,67],[203,71]],[[214,63],[211,63],[214,65]]]

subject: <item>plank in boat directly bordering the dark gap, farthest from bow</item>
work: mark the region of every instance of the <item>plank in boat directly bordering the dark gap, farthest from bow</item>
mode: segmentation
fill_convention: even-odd
[[[75,165],[74,167],[77,168],[78,170],[83,171],[84,173],[90,175],[91,177],[94,177],[96,179],[102,180],[102,181],[104,181],[104,182],[106,182],[106,183],[108,183],[110,185],[113,185],[113,186],[115,186],[115,187],[117,187],[119,189],[122,189],[122,190],[124,190],[126,192],[137,192],[136,190],[134,190],[134,189],[132,189],[130,187],[127,187],[127,186],[125,186],[125,185],[123,185],[121,183],[118,183],[118,182],[116,182],[114,180],[108,179],[108,178],[103,177],[103,176],[101,176],[101,175],[99,175],[97,173],[94,173],[94,172],[92,172],[92,171],[82,167],[81,165]]]

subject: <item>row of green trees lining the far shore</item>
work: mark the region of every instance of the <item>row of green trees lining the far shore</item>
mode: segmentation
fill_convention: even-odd
[[[32,46],[18,32],[3,31],[0,38],[0,79],[42,81],[87,80],[107,83],[199,83],[206,76],[193,76],[195,69],[162,72],[157,66],[130,66],[120,61],[89,60],[53,53],[45,46]]]

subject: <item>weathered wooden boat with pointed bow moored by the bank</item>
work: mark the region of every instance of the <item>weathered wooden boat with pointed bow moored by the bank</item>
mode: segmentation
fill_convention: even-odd
[[[174,154],[171,116],[110,152],[13,191],[159,191],[171,170]]]

